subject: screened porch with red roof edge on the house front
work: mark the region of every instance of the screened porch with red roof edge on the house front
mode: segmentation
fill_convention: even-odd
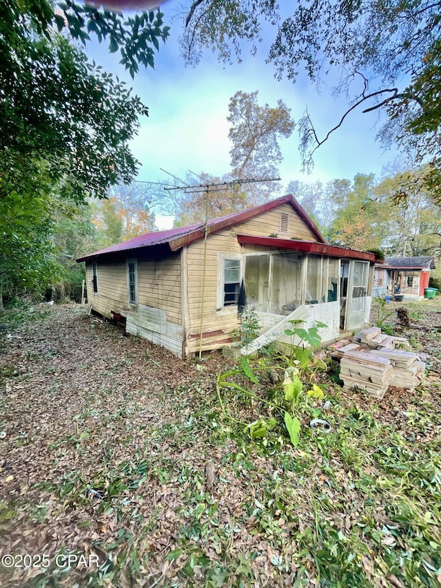
[[[238,241],[244,248],[247,307],[254,308],[263,331],[287,316],[295,320],[294,311],[300,308],[308,311],[307,326],[327,325],[319,331],[324,344],[339,338],[341,330],[358,329],[369,321],[373,255],[305,241],[283,240],[285,249],[276,248],[275,241],[281,239],[239,236]],[[276,247],[263,250],[267,241]]]

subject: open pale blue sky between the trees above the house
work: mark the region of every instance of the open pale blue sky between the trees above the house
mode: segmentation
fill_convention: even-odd
[[[133,81],[118,64],[118,54],[109,54],[105,45],[95,42],[87,46],[90,57],[125,79],[150,109],[150,116],[141,119],[139,135],[131,143],[142,164],[139,180],[163,178],[165,174],[160,168],[180,178],[185,177],[187,170],[214,176],[229,172],[231,145],[226,117],[229,98],[238,90],[258,90],[262,105],[276,105],[282,99],[296,121],[307,107],[319,136],[338,123],[347,103],[330,97],[331,88],[326,86],[326,80],[320,92],[305,74],[300,74],[296,83],[278,81],[274,67],[265,63],[265,48],[259,48],[256,57],[249,56],[245,48],[243,62],[234,65],[218,63],[212,52],[205,52],[196,68],[185,67],[178,50],[181,22],[172,20],[180,6],[178,1],[169,0],[161,8],[165,23],[172,27],[171,37],[161,44],[155,69],[139,72]],[[267,39],[264,43],[267,48]],[[353,179],[357,173],[380,177],[393,154],[384,153],[375,141],[378,123],[378,112],[352,112],[342,128],[316,152],[314,172],[309,175],[300,171],[298,134],[294,130],[289,139],[280,142],[284,156],[280,177],[284,185],[291,180]]]

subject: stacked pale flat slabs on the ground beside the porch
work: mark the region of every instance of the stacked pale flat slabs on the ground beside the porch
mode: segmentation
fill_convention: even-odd
[[[378,327],[364,329],[354,339],[334,349],[346,389],[363,389],[381,399],[389,386],[413,389],[424,379],[424,357],[396,349],[406,339],[384,335]]]

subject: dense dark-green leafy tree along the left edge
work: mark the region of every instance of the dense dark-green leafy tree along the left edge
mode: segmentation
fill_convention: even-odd
[[[54,208],[103,198],[136,174],[128,143],[147,108],[89,63],[81,42],[108,41],[133,76],[153,67],[168,37],[162,18],[125,19],[71,0],[0,3],[0,294],[44,285],[57,271]]]

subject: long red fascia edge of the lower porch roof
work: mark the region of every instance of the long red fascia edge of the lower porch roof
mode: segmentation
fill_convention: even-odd
[[[297,239],[277,239],[276,237],[258,237],[253,235],[238,235],[240,245],[263,245],[277,249],[291,249],[305,253],[325,254],[331,257],[360,259],[362,261],[378,261],[375,254],[367,251],[357,251],[346,247],[337,247],[328,243],[314,241],[299,241]]]

